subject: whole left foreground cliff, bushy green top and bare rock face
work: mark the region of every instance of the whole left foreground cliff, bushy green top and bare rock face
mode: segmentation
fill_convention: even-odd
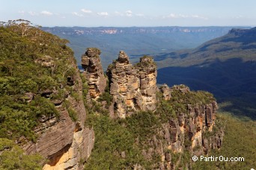
[[[94,130],[85,127],[85,94],[68,41],[22,19],[5,23],[0,34],[0,138],[28,156],[16,154],[10,168],[13,160],[1,156],[14,150],[4,146],[1,163],[10,164],[5,169],[83,169]],[[32,168],[34,154],[41,159]]]

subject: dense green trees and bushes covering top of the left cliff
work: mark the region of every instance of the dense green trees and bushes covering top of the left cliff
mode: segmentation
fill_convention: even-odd
[[[22,19],[0,27],[0,137],[35,142],[38,119],[58,118],[52,101],[71,92],[67,76],[75,74],[67,42]]]

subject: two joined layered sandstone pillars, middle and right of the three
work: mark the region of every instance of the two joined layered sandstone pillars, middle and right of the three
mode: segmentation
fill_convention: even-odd
[[[107,75],[118,117],[125,118],[140,110],[156,110],[156,64],[152,58],[143,57],[132,66],[127,54],[120,51]]]

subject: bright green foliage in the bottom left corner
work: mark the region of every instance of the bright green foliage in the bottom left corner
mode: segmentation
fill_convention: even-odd
[[[0,169],[42,169],[43,157],[26,155],[13,141],[0,138]]]

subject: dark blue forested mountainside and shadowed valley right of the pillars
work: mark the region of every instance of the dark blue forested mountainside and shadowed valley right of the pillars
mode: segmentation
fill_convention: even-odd
[[[191,50],[155,56],[157,81],[212,92],[227,109],[256,119],[256,28],[232,29]]]

